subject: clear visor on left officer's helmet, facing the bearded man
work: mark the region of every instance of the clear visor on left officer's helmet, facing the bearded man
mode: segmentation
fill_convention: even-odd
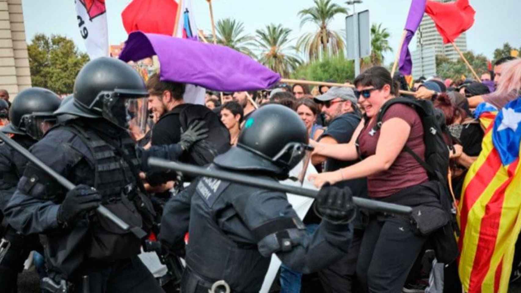
[[[110,93],[103,99],[102,115],[138,140],[150,130],[147,96]]]

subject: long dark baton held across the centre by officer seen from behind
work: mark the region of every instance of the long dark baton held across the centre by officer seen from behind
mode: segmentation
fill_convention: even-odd
[[[215,179],[240,183],[244,185],[255,186],[259,188],[265,188],[269,190],[275,190],[278,192],[284,193],[292,193],[296,195],[301,195],[305,197],[317,198],[318,190],[299,187],[299,186],[291,186],[286,184],[281,184],[278,182],[273,182],[270,180],[259,179],[253,176],[247,176],[232,172],[227,172],[223,170],[208,170],[199,166],[183,164],[178,162],[167,161],[159,158],[149,158],[148,165],[159,167],[163,169],[175,170],[182,173],[189,173],[193,175],[212,177]],[[371,200],[361,197],[353,196],[353,203],[358,207],[375,210],[380,212],[388,212],[395,214],[410,214],[412,211],[411,207],[396,205],[395,203],[388,203],[379,200]]]

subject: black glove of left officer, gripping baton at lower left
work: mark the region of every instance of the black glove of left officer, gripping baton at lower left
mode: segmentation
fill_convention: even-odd
[[[70,190],[58,209],[58,223],[70,224],[81,214],[100,206],[101,196],[93,187],[80,184]]]

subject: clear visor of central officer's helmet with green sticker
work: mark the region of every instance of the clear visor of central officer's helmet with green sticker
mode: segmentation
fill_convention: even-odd
[[[311,161],[313,147],[302,143],[289,143],[272,159],[278,164],[287,165],[290,179],[304,184],[306,171]]]

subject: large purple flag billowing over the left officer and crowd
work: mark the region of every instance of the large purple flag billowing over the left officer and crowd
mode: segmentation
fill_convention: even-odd
[[[157,55],[160,79],[223,92],[269,88],[280,75],[234,49],[163,34],[129,34],[119,59],[138,61]]]

